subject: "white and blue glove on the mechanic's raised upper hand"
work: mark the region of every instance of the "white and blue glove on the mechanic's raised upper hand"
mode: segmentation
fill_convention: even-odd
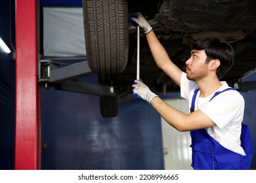
[[[149,33],[152,30],[152,27],[150,26],[150,24],[148,24],[148,22],[146,21],[144,16],[140,14],[140,12],[129,14],[129,23],[142,28],[145,34]]]

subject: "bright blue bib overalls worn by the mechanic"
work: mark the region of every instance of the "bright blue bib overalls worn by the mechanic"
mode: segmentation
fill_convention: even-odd
[[[190,112],[194,112],[194,103],[196,101],[197,89],[192,98]],[[215,96],[219,93],[234,90],[234,88],[227,88],[221,92],[216,92]],[[210,100],[211,101],[211,100]],[[206,129],[198,129],[190,131],[192,138],[192,164],[195,170],[234,170],[234,169],[250,169],[251,158],[253,156],[253,145],[249,128],[246,124],[242,123],[241,133],[241,146],[245,151],[246,156],[232,152],[224,148],[219,142],[211,137]]]

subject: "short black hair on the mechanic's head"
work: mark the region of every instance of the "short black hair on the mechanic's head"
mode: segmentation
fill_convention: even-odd
[[[234,63],[234,49],[228,42],[221,42],[215,37],[198,39],[192,46],[193,50],[205,50],[209,63],[212,59],[219,59],[221,65],[217,68],[216,74],[220,79],[232,67]]]

